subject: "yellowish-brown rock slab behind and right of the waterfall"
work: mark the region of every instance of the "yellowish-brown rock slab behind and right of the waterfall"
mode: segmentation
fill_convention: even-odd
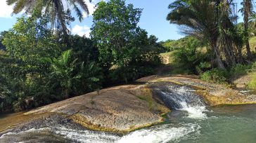
[[[216,83],[207,83],[199,79],[193,79],[189,76],[169,76],[157,77],[148,80],[149,83],[169,82],[179,86],[189,86],[193,88],[196,95],[200,95],[209,106],[216,106],[222,104],[255,104],[255,94],[245,94],[239,90],[228,88],[225,85]]]

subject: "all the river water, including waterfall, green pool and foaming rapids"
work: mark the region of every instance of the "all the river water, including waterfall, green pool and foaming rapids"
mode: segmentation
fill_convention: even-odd
[[[160,125],[127,135],[65,126],[32,128],[1,135],[0,142],[256,142],[256,105],[205,107],[187,87],[168,86],[155,92],[174,109]]]

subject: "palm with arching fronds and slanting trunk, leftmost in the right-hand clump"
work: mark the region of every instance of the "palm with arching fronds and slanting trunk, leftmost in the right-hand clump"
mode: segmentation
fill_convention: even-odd
[[[183,27],[182,31],[185,34],[207,41],[215,53],[218,67],[224,69],[222,57],[217,47],[219,32],[217,16],[214,13],[215,4],[210,4],[210,1],[189,2],[178,0],[170,4],[171,12],[167,15],[167,20]]]

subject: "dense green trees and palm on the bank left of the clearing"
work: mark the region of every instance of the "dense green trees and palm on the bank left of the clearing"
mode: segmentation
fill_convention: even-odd
[[[25,8],[30,17],[18,18],[12,29],[1,33],[0,112],[31,109],[134,81],[153,74],[160,64],[162,46],[137,25],[141,9],[132,4],[99,3],[87,38],[68,34],[70,19],[62,1],[7,2],[15,4],[14,13]],[[77,4],[88,13],[82,1],[68,2],[79,18]],[[49,27],[56,21],[60,32]]]

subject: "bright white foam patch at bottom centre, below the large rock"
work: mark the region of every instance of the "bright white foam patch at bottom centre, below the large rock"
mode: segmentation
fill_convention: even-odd
[[[165,143],[179,140],[181,137],[199,130],[199,128],[200,126],[196,124],[187,124],[179,128],[174,128],[171,125],[158,125],[154,128],[131,132],[129,135],[122,137],[118,143]]]

